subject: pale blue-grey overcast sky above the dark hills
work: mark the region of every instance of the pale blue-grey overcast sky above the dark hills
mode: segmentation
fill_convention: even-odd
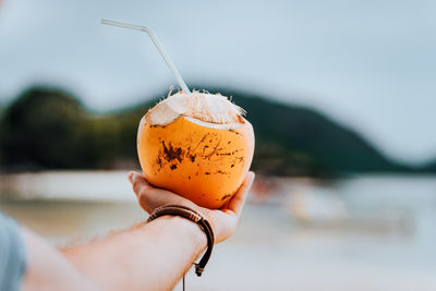
[[[232,87],[311,107],[390,158],[436,158],[436,1],[4,0],[0,104],[56,85],[97,111],[134,105],[177,83]],[[304,124],[302,124],[304,126]]]

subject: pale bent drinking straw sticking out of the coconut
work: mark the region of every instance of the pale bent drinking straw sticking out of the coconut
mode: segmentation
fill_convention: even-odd
[[[140,32],[146,32],[149,37],[152,38],[153,44],[155,44],[157,50],[159,51],[160,56],[162,56],[165,62],[167,63],[168,68],[171,70],[172,74],[174,75],[177,82],[179,83],[179,86],[182,88],[184,93],[191,94],[191,90],[187,88],[186,83],[184,83],[182,76],[180,75],[179,71],[175,69],[175,65],[172,63],[171,59],[168,57],[167,52],[165,52],[162,45],[160,41],[157,39],[155,33],[146,27],[146,26],[138,26],[138,25],[132,25],[132,24],[126,24],[122,22],[117,22],[117,21],[109,21],[109,20],[101,20],[101,24],[107,24],[107,25],[113,25],[113,26],[119,26],[123,28],[130,28],[130,29],[135,29]]]

